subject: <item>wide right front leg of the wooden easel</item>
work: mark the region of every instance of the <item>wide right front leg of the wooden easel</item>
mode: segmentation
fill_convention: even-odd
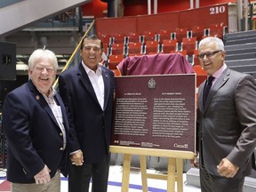
[[[168,158],[168,175],[167,175],[167,191],[174,192],[175,190],[175,158]]]

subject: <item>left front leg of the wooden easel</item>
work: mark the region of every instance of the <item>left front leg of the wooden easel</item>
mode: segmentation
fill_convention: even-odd
[[[122,192],[129,191],[130,169],[132,155],[124,154]]]

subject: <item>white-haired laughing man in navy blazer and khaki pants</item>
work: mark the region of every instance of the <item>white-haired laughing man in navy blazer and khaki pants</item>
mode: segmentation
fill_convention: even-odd
[[[12,192],[60,192],[60,171],[67,176],[68,113],[52,89],[57,68],[53,52],[36,50],[28,60],[28,83],[4,100],[7,180]]]

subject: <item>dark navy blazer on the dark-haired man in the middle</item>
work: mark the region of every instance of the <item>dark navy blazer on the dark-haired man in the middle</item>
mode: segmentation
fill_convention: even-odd
[[[70,151],[81,149],[86,164],[99,163],[109,151],[115,78],[108,68],[100,68],[105,85],[103,110],[82,63],[59,76],[60,95],[69,111]]]

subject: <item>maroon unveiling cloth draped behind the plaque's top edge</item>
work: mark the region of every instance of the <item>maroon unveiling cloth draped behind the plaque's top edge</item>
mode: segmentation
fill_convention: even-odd
[[[180,53],[127,57],[117,65],[122,76],[191,74],[194,69]]]

